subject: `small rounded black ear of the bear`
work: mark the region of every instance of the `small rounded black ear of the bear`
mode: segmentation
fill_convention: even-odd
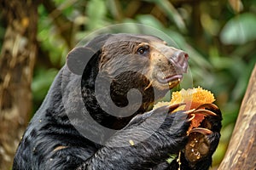
[[[91,48],[73,48],[67,54],[67,67],[76,75],[82,75],[89,60],[96,54]]]

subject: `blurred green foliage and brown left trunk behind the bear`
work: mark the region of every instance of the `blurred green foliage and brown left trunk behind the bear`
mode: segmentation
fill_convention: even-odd
[[[189,54],[193,85],[211,90],[223,112],[218,168],[256,61],[253,0],[1,1],[0,169],[10,168],[67,53],[92,31],[119,23],[153,26]]]

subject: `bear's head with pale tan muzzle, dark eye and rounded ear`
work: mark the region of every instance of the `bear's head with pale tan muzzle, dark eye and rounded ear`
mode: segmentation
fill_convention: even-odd
[[[129,121],[177,86],[187,71],[188,59],[188,54],[158,37],[119,33],[101,35],[74,48],[67,66],[82,75],[88,110],[105,107],[105,112],[115,112],[119,119]],[[128,115],[117,107],[125,108]]]

